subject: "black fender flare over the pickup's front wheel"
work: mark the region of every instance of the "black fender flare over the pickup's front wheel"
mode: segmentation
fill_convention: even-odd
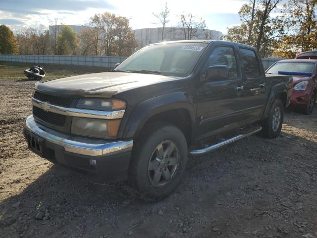
[[[151,117],[173,109],[185,109],[191,118],[193,128],[195,108],[186,92],[172,92],[145,100],[136,105],[131,112],[123,131],[123,138],[133,138],[140,134],[143,126]]]

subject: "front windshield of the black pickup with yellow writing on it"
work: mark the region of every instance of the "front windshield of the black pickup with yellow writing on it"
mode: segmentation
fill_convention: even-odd
[[[149,45],[130,56],[113,71],[187,76],[207,43],[161,43]]]

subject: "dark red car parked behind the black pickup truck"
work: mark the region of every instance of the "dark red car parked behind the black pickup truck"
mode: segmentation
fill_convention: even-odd
[[[266,73],[293,75],[290,106],[305,114],[313,112],[317,97],[317,60],[280,60],[271,65]]]

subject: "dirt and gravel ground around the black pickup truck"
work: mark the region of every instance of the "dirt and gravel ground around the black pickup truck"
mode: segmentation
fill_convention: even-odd
[[[190,158],[177,191],[149,203],[27,149],[34,84],[0,76],[1,238],[317,238],[317,108],[287,110],[274,140],[253,135]]]

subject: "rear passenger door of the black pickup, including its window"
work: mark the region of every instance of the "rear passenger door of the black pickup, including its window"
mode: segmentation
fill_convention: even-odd
[[[250,48],[239,47],[244,74],[245,123],[261,119],[266,103],[265,75],[261,59]]]

